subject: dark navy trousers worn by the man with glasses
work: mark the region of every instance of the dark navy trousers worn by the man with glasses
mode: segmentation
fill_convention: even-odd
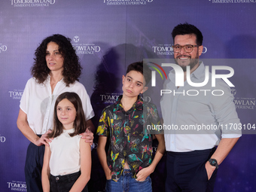
[[[212,192],[217,169],[208,180],[205,164],[215,148],[190,151],[167,152],[166,192]]]

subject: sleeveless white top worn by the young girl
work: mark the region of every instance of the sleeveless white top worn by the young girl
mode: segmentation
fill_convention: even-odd
[[[69,136],[75,129],[63,130],[60,136],[57,136],[50,142],[50,174],[68,175],[80,170],[80,139],[81,136]]]

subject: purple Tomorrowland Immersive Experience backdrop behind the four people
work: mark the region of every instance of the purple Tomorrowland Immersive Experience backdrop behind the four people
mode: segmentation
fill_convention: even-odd
[[[172,58],[172,29],[185,22],[203,32],[200,58],[229,59],[226,66],[235,72],[230,81],[236,110],[243,127],[251,130],[221,164],[215,191],[256,191],[255,17],[255,0],[1,0],[0,191],[26,191],[29,141],[16,121],[35,49],[44,38],[59,33],[72,39],[97,126],[102,109],[122,93],[126,66],[142,59]],[[89,188],[103,191],[105,175],[96,147],[95,137]],[[154,191],[164,191],[165,159],[151,175]]]

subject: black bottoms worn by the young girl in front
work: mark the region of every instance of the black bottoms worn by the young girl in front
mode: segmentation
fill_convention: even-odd
[[[81,172],[75,172],[69,175],[50,175],[50,192],[69,192],[75,181],[79,178]],[[87,185],[82,192],[87,192]]]

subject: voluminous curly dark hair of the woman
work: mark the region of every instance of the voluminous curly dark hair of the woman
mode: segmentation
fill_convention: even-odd
[[[61,53],[64,58],[62,72],[63,81],[66,83],[66,86],[69,87],[69,84],[74,84],[75,81],[78,81],[82,67],[79,62],[79,57],[75,53],[75,49],[72,47],[71,39],[66,38],[63,35],[55,34],[45,38],[41,42],[39,47],[35,50],[35,62],[32,66],[31,74],[39,84],[43,84],[47,79],[50,69],[47,67],[45,56],[47,44],[50,42],[54,42],[59,45],[59,53]]]

